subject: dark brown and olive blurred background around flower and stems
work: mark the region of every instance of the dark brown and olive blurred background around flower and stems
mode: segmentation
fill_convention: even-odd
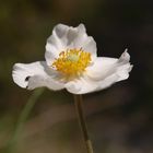
[[[129,49],[130,78],[84,95],[95,153],[153,153],[153,3],[141,0],[0,1],[0,153],[33,94],[12,81],[15,62],[44,59],[45,44],[58,23],[84,23],[98,56]],[[73,96],[45,92],[21,134],[15,153],[84,153]]]

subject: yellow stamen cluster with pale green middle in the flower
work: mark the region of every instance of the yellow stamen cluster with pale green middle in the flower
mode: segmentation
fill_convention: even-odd
[[[91,54],[81,49],[68,49],[59,54],[52,63],[57,71],[67,78],[76,76],[85,71],[91,62]]]

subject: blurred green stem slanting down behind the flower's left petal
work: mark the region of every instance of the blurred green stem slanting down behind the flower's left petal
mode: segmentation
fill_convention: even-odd
[[[12,152],[17,143],[20,133],[23,129],[23,126],[26,121],[26,119],[28,118],[34,105],[36,104],[38,97],[43,94],[45,89],[38,89],[35,90],[34,93],[31,95],[31,97],[28,98],[26,105],[24,106],[23,110],[21,111],[21,115],[19,117],[17,123],[16,123],[16,128],[14,130],[14,133],[11,138],[11,140],[9,141],[8,144],[8,152]]]

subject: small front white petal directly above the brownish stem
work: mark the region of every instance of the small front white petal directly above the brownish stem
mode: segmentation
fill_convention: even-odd
[[[96,84],[92,80],[85,76],[68,82],[64,87],[72,94],[86,94],[96,91],[98,83]]]

